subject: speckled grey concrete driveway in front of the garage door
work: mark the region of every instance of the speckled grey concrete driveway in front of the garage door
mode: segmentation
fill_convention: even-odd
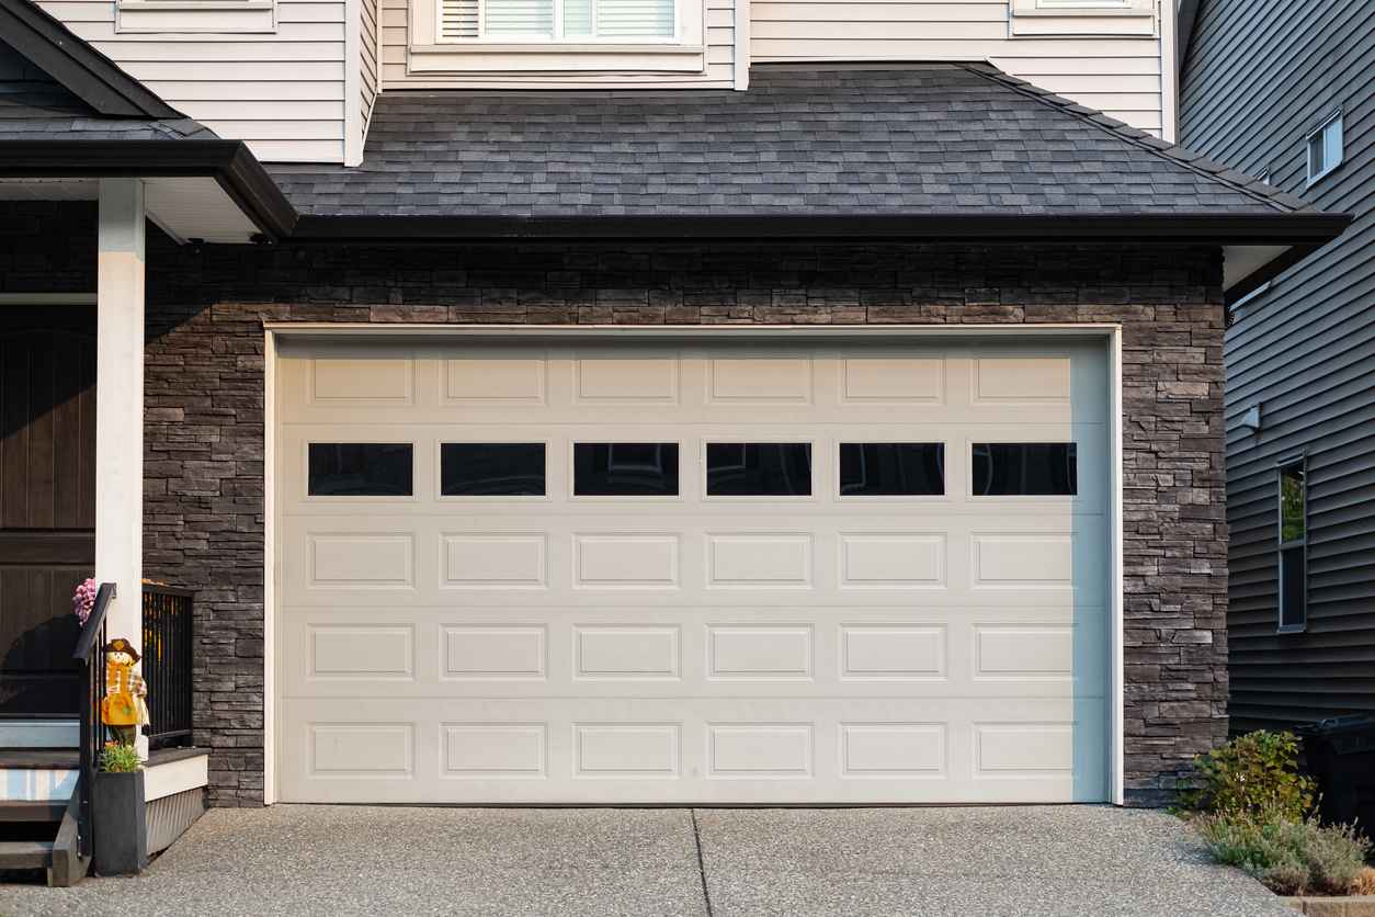
[[[1174,818],[1090,806],[213,810],[139,879],[0,914],[1292,917]]]

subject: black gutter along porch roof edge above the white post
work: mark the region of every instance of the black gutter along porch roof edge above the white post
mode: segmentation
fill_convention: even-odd
[[[213,177],[264,236],[282,239],[296,228],[296,208],[242,140],[0,142],[0,177],[129,176]]]

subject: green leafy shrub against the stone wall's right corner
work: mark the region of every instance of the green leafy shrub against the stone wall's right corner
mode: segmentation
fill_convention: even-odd
[[[1313,806],[1313,781],[1298,773],[1292,733],[1247,733],[1194,759],[1198,789],[1181,795],[1200,813],[1269,813],[1299,821]]]

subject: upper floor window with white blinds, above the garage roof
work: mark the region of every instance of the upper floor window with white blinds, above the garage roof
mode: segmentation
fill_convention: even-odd
[[[672,41],[675,0],[440,0],[448,41]]]

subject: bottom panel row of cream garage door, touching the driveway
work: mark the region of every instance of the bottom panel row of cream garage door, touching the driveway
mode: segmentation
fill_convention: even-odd
[[[1101,700],[353,701],[285,705],[300,802],[1074,802]],[[289,747],[292,742],[289,742]],[[289,748],[290,749],[290,748]],[[803,791],[806,792],[806,791]]]

